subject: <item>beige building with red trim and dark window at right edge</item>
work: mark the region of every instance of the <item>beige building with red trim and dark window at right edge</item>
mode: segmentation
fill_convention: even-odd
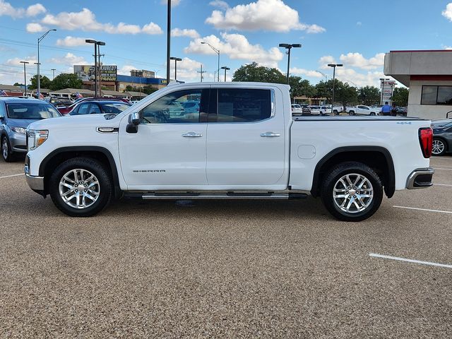
[[[384,73],[410,88],[410,117],[442,119],[452,111],[452,50],[391,51]]]

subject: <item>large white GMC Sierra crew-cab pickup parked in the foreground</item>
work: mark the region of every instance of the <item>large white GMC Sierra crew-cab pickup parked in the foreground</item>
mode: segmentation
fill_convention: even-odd
[[[174,101],[198,112],[169,114]],[[292,119],[287,85],[169,85],[120,114],[37,121],[25,177],[71,216],[112,198],[321,197],[340,220],[369,218],[383,194],[432,186],[430,121],[401,117]]]

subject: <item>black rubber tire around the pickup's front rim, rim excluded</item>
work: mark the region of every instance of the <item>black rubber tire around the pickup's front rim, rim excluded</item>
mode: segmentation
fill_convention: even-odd
[[[97,200],[91,206],[85,208],[74,208],[69,206],[69,204],[64,202],[63,198],[61,198],[61,194],[59,192],[60,180],[66,173],[73,169],[83,169],[84,171],[89,171],[91,174],[95,175],[95,178],[97,178],[99,195]],[[55,206],[61,210],[61,212],[71,217],[90,217],[99,213],[111,201],[113,196],[112,178],[110,177],[105,165],[102,165],[102,163],[97,160],[88,157],[75,157],[61,163],[61,165],[54,170],[50,176],[49,192],[52,197],[52,201]]]

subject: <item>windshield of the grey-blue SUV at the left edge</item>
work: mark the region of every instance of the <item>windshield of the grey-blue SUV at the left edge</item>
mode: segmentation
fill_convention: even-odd
[[[24,102],[7,104],[8,118],[10,119],[47,119],[61,117],[61,114],[52,105],[46,102]]]

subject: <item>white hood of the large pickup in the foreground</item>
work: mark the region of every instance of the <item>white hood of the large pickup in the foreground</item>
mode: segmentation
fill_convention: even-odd
[[[105,114],[86,114],[86,115],[66,115],[64,117],[57,117],[51,119],[44,119],[35,121],[28,126],[29,129],[78,129],[85,127],[105,126],[110,127],[119,126],[119,117],[107,120]]]

